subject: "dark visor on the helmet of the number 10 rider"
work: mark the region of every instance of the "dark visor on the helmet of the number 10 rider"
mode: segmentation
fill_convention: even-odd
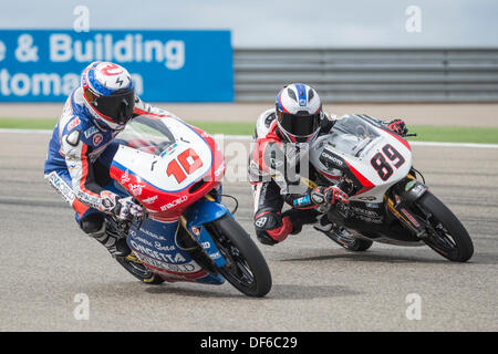
[[[126,124],[135,110],[135,91],[122,90],[110,96],[97,96],[89,87],[85,96],[92,107],[117,124]]]

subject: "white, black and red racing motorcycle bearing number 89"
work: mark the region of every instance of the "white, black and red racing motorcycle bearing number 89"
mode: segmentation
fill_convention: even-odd
[[[461,222],[413,168],[408,142],[378,119],[350,115],[338,121],[310,146],[310,160],[320,185],[336,185],[351,196],[349,205],[322,207],[315,227],[345,249],[365,251],[377,241],[427,244],[457,262],[473,256]]]

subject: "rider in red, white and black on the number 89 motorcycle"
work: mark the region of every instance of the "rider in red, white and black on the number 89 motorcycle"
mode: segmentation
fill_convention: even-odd
[[[279,166],[289,166],[289,152],[305,148],[318,136],[328,134],[334,122],[322,111],[318,92],[302,83],[280,90],[274,108],[259,116],[248,173],[255,198],[255,229],[261,243],[276,244],[290,233],[299,233],[303,225],[317,222],[320,215],[317,208],[323,204],[349,204],[349,196],[335,186],[310,186],[304,194],[293,194],[289,191],[291,183],[287,177],[272,175]],[[401,119],[384,124],[396,134],[407,132]],[[308,167],[309,176],[304,177],[314,184],[318,171],[311,164]],[[282,212],[286,202],[291,209]]]

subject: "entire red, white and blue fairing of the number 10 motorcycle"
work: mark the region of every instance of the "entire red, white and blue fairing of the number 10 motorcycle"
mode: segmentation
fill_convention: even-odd
[[[129,247],[147,268],[167,281],[222,283],[225,279],[216,271],[203,268],[204,259],[197,258],[196,248],[190,244],[190,250],[181,249],[178,240],[178,236],[191,237],[203,248],[201,257],[210,257],[218,267],[226,266],[226,259],[203,227],[228,212],[218,202],[226,165],[214,138],[179,119],[149,116],[135,118],[123,133],[121,138],[127,146],[122,145],[115,154],[111,176],[148,212],[139,229],[129,230]],[[190,159],[193,155],[185,153],[193,149]],[[188,169],[195,162],[200,163]],[[169,173],[172,164],[183,166],[185,178]],[[212,192],[216,199],[210,196]],[[214,200],[207,202],[205,196]],[[179,223],[186,219],[190,236]]]

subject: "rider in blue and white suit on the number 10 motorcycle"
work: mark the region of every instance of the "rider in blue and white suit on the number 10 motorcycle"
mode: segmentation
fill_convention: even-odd
[[[142,102],[126,69],[93,62],[83,71],[81,85],[68,97],[49,143],[45,179],[72,205],[81,229],[113,257],[127,256],[129,248],[124,239],[106,230],[105,214],[118,219],[144,214],[132,197],[105,189],[118,147],[114,139],[126,123],[142,114],[174,116]]]

